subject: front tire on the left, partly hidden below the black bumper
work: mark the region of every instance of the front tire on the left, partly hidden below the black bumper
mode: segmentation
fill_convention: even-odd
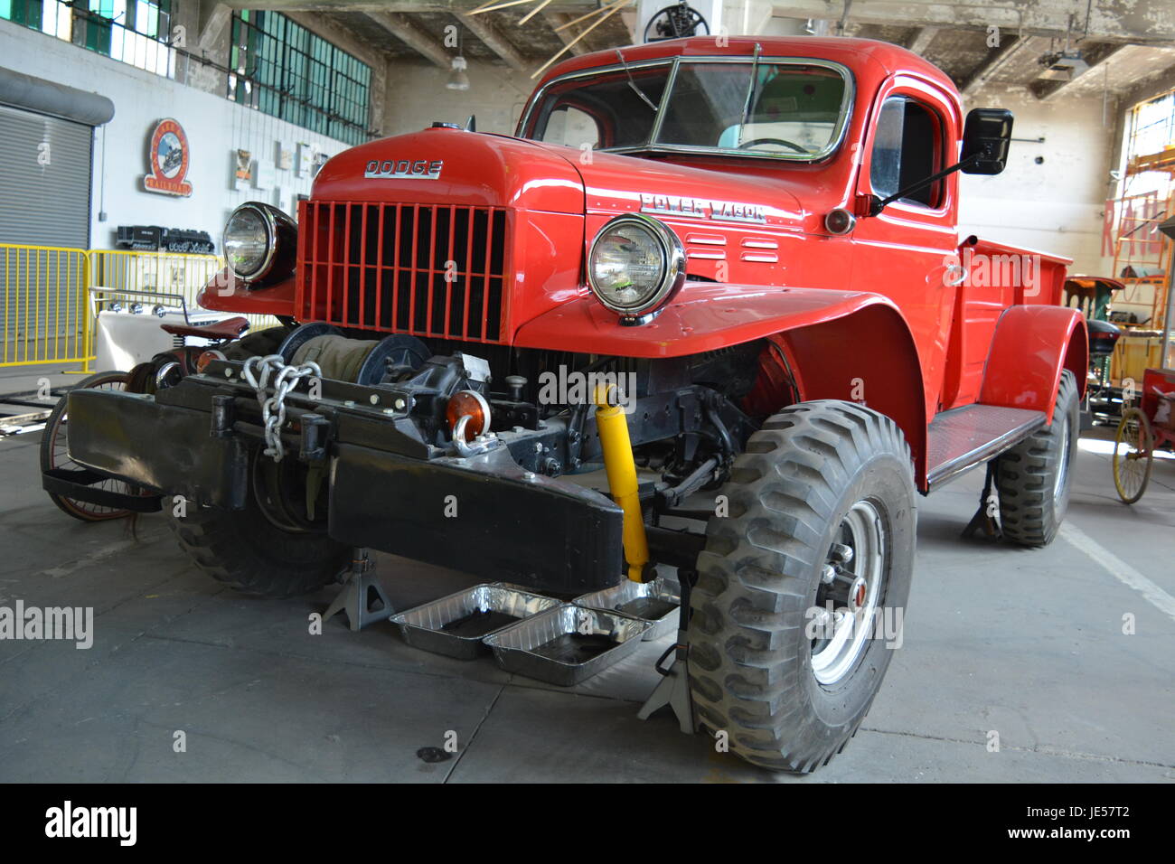
[[[180,548],[196,567],[242,594],[295,597],[335,581],[351,550],[321,533],[293,533],[274,525],[249,496],[243,510],[215,510],[188,502],[175,515],[172,498],[163,509]]]

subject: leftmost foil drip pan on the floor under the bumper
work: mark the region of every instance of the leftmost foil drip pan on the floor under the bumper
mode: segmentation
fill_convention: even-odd
[[[557,605],[553,597],[486,582],[392,615],[391,623],[414,648],[472,659],[489,652],[484,636]]]

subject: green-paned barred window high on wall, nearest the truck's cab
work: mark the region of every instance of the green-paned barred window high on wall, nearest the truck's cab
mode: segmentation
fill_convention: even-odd
[[[371,67],[286,15],[234,12],[229,67],[229,99],[348,143],[368,140]]]

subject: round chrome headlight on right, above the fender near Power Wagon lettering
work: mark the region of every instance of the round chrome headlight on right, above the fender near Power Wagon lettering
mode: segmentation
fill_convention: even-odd
[[[656,219],[617,216],[600,228],[588,254],[588,284],[625,323],[662,308],[685,282],[685,249]]]

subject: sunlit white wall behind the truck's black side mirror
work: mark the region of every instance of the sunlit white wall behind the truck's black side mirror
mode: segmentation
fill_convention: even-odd
[[[989,87],[966,101],[965,109],[1010,109],[1013,136],[1043,136],[1045,143],[1013,141],[1002,174],[962,175],[960,234],[1072,257],[1070,273],[1112,275],[1113,255],[1102,256],[1101,237],[1113,195],[1113,102],[1106,128],[1100,98],[1042,102],[1022,88]]]

